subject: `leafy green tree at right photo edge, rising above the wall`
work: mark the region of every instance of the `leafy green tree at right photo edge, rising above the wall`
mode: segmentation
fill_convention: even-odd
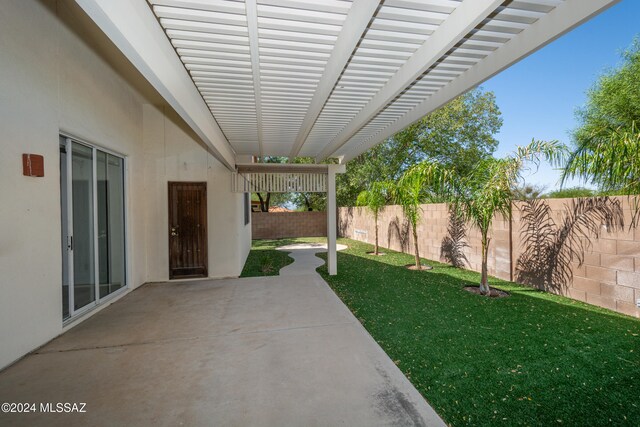
[[[602,75],[578,111],[574,150],[563,182],[580,177],[601,191],[640,194],[640,39],[623,54],[623,63]],[[636,201],[636,217],[638,203]]]

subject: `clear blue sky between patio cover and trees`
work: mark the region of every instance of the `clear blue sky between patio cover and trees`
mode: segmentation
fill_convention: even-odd
[[[623,0],[483,83],[496,94],[504,119],[496,156],[532,138],[570,144],[576,109],[597,77],[620,64],[620,53],[640,35],[639,18],[640,1]],[[550,191],[559,187],[559,176],[544,165],[526,182]]]

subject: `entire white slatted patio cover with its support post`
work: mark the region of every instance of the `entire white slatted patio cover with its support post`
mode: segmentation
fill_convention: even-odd
[[[344,164],[617,2],[76,1],[234,172],[250,156]]]

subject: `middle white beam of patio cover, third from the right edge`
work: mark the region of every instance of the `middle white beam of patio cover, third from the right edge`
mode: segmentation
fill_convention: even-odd
[[[290,160],[300,153],[300,149],[322,111],[322,107],[331,95],[333,87],[379,5],[380,1],[378,0],[355,0],[353,2],[298,131],[298,136],[289,155]]]

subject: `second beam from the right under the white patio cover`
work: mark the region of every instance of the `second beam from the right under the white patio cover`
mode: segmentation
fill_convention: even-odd
[[[338,133],[333,141],[320,152],[317,159],[326,159],[346,144],[358,130],[375,117],[391,100],[434,65],[462,37],[487,18],[502,3],[502,0],[475,0],[462,3],[400,67],[353,120]]]

